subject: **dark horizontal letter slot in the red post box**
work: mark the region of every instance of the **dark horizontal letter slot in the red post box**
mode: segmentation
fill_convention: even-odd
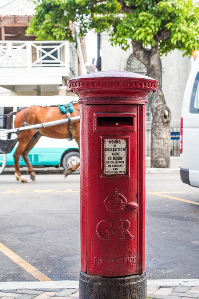
[[[98,117],[98,127],[133,127],[133,117]]]

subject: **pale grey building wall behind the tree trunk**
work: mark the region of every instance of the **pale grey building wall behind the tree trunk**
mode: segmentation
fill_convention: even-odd
[[[103,32],[101,35],[101,70],[127,70],[146,74],[146,68],[134,56],[132,45],[127,51],[122,50],[119,46],[111,46],[108,33]],[[181,106],[183,95],[189,72],[191,69],[191,59],[183,57],[182,52],[175,50],[162,60],[162,89],[165,100],[172,112],[171,123],[180,125]],[[147,106],[147,118],[150,122],[149,106]]]

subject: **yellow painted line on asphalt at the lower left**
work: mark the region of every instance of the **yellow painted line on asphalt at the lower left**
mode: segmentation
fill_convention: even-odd
[[[30,265],[25,260],[23,260],[21,257],[19,257],[17,254],[15,254],[13,251],[11,251],[9,248],[7,248],[2,243],[0,243],[0,252],[4,253],[4,255],[6,255],[8,258],[10,258],[13,262],[15,262],[17,265],[19,265],[21,268],[23,268],[29,274],[31,274],[38,281],[40,281],[40,282],[52,281],[52,279],[47,277],[45,274],[41,273],[39,270],[37,270],[35,267]]]

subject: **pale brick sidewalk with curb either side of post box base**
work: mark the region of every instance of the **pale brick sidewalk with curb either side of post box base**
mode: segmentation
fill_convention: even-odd
[[[78,299],[78,293],[78,281],[0,283],[1,299]],[[148,280],[147,296],[151,299],[199,299],[199,279]]]

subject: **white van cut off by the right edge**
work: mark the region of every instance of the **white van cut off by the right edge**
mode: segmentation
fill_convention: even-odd
[[[180,131],[181,180],[199,187],[199,56],[187,81]]]

